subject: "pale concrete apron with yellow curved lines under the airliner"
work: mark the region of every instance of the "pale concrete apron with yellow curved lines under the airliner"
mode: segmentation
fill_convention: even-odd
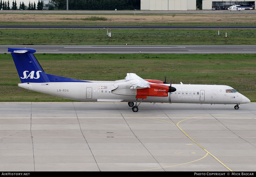
[[[256,103],[0,102],[1,171],[255,171]]]

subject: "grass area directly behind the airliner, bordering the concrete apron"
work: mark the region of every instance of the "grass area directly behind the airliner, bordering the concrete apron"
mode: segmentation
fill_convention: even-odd
[[[80,80],[119,80],[126,73],[173,84],[229,85],[256,101],[255,54],[36,54],[46,73]],[[0,54],[0,101],[70,101],[22,89],[10,54]],[[168,79],[167,79],[168,80]]]

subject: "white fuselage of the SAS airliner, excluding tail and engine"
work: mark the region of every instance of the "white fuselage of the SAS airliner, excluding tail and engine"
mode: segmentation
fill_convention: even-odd
[[[135,102],[136,90],[118,87],[120,81],[92,82],[49,82],[22,83],[20,87],[41,93],[79,101],[90,102]],[[163,84],[169,85],[169,84]],[[199,103],[199,104],[242,104],[250,100],[238,92],[227,93],[233,89],[227,85],[173,84],[177,90],[167,97],[147,96],[143,102],[154,103]],[[123,87],[123,85],[122,85]],[[141,99],[138,99],[140,101]]]

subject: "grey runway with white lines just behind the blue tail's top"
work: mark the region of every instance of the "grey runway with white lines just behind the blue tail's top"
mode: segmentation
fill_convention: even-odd
[[[184,54],[255,54],[256,45],[176,45],[176,46],[156,46],[156,45],[102,45],[102,46],[78,46],[78,45],[0,45],[0,53],[8,53],[8,47],[33,48],[36,53],[184,53]]]

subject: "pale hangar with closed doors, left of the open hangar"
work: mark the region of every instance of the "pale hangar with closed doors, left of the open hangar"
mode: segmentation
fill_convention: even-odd
[[[141,0],[141,10],[196,10],[196,0]]]

